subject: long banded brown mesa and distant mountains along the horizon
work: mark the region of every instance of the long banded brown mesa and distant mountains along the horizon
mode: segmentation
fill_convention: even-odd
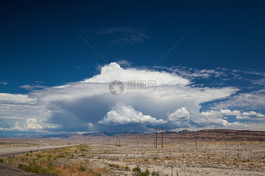
[[[109,133],[106,131],[96,133],[83,134],[68,134],[68,135],[14,135],[14,136],[0,136],[0,137],[16,137],[16,138],[55,138],[60,140],[116,140],[117,137],[123,141],[137,141],[141,140],[146,143],[153,142],[154,139],[161,138],[162,132],[145,133],[141,132],[117,132]],[[212,142],[212,141],[265,141],[265,131],[247,131],[247,130],[200,130],[200,131],[165,131],[163,132],[163,141],[167,143],[174,142],[194,142],[195,138],[198,141]]]

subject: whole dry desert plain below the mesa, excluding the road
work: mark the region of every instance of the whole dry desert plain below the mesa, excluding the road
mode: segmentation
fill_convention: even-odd
[[[132,175],[137,165],[157,175],[265,175],[264,141],[170,142],[161,139],[0,138],[0,147],[79,144],[74,147],[0,156],[3,162],[49,167],[56,175]],[[82,144],[82,145],[80,145]],[[157,146],[157,148],[156,148]],[[255,156],[255,158],[254,158]],[[25,170],[25,169],[24,169]],[[135,169],[134,169],[135,170]],[[1,174],[0,174],[1,175]]]

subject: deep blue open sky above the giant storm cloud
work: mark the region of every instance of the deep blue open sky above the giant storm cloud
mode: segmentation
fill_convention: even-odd
[[[204,87],[238,88],[235,95],[263,90],[264,5],[262,1],[2,2],[0,93],[32,97],[34,91],[98,75],[111,62],[122,68],[171,72]],[[213,75],[195,79],[187,76],[189,72]],[[262,105],[247,107],[239,110],[264,113]]]

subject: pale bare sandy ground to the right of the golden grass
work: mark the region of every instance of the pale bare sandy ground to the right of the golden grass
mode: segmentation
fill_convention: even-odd
[[[21,146],[25,144],[23,141],[18,142]],[[43,141],[45,142],[47,141]],[[177,173],[179,176],[265,175],[263,142],[199,142],[198,150],[195,143],[164,144],[162,150],[161,145],[155,149],[153,144],[139,144],[137,147],[135,143],[133,145],[128,143],[128,146],[127,143],[122,143],[124,146],[116,147],[113,143],[102,145],[99,144],[100,142],[93,144],[89,141],[82,142],[86,143],[84,145],[86,150],[81,154],[72,154],[73,160],[89,167],[105,168],[107,173],[102,175],[131,175],[132,168],[137,164],[142,171],[148,167],[151,173],[155,170],[159,175],[177,175]],[[2,146],[6,147],[8,143],[3,142]],[[67,158],[60,158],[58,161],[59,164],[67,162],[69,163]],[[110,164],[117,164],[120,168]],[[124,166],[129,166],[130,171],[124,170]]]

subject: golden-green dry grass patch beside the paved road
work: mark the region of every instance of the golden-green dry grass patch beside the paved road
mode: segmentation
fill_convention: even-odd
[[[62,176],[100,176],[105,169],[94,169],[88,166],[89,160],[79,161],[79,155],[85,156],[81,152],[86,151],[84,146],[65,147],[47,151],[37,151],[8,157],[7,162],[11,166],[32,173],[55,174]],[[73,158],[77,161],[73,162]]]

